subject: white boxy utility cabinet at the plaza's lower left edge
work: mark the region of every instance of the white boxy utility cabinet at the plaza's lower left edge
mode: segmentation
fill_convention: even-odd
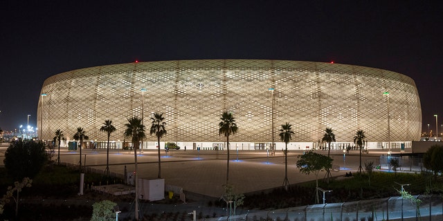
[[[165,198],[165,179],[138,179],[138,199],[163,200]]]

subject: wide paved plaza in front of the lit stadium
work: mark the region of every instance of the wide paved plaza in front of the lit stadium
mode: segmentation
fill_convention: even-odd
[[[3,155],[6,145],[0,148],[0,159],[3,164]],[[387,151],[386,151],[387,152]],[[395,150],[393,151],[395,153]],[[327,154],[327,151],[318,151]],[[288,180],[290,184],[315,180],[314,175],[305,175],[296,168],[297,155],[302,151],[289,151],[288,155]],[[385,154],[381,151],[370,151],[363,154],[362,162],[374,161],[374,165],[379,164],[379,156]],[[226,183],[226,151],[170,151],[168,155],[161,151],[161,177],[165,179],[165,184],[179,186],[183,191],[190,191],[212,197],[220,197],[224,193],[223,184]],[[332,171],[332,176],[341,176],[359,168],[359,152],[350,151],[343,157],[343,151],[331,151],[335,168],[340,170]],[[54,159],[57,159],[57,150]],[[79,152],[68,151],[62,147],[60,151],[61,162],[78,164]],[[138,152],[138,174],[142,178],[156,178],[158,173],[158,155],[156,150],[144,150]],[[106,149],[83,149],[82,164],[93,169],[105,170]],[[235,192],[249,193],[262,191],[274,187],[282,186],[284,180],[284,155],[282,151],[276,151],[271,156],[266,151],[230,151],[229,163],[230,183],[234,184]],[[112,173],[127,173],[134,171],[134,152],[109,151],[109,169]],[[319,178],[323,178],[325,173],[320,173]]]

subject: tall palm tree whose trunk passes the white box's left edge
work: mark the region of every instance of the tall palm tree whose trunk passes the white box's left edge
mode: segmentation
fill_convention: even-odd
[[[134,145],[134,173],[136,174],[136,220],[138,220],[138,172],[137,172],[137,148],[140,145],[140,140],[145,137],[145,125],[141,123],[142,119],[138,117],[132,117],[127,119],[128,123],[125,124],[125,137],[132,137],[132,145]]]

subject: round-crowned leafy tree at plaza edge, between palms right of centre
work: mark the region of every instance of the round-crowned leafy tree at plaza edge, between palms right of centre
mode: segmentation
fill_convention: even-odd
[[[332,168],[332,159],[325,155],[309,151],[303,155],[298,155],[297,158],[297,168],[300,172],[309,175],[314,173],[316,175],[316,187],[318,187],[318,173]]]

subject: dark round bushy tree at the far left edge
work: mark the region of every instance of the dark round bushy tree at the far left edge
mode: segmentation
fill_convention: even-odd
[[[43,142],[16,140],[6,149],[3,163],[10,177],[22,180],[24,177],[35,177],[47,160]]]

